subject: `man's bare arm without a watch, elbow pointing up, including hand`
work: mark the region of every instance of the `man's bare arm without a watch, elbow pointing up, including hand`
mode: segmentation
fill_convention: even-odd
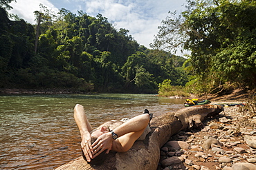
[[[82,105],[79,105],[79,104],[75,105],[74,118],[80,130],[80,134],[82,138],[81,147],[82,147],[82,150],[84,151],[84,156],[86,157],[86,160],[90,162],[91,158],[93,158],[93,147],[91,146],[91,134],[90,134],[92,127],[86,117],[86,114],[84,112],[84,107]]]

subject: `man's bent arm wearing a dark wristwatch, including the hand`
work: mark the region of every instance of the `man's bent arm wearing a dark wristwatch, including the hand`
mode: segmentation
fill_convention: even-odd
[[[116,129],[113,129],[115,134],[118,135],[116,140],[113,140],[111,132],[99,136],[93,143],[94,153],[96,153],[93,158],[105,149],[108,149],[106,153],[109,153],[111,149],[120,152],[129,150],[140,135],[143,134],[149,119],[149,114],[141,114],[116,127]]]

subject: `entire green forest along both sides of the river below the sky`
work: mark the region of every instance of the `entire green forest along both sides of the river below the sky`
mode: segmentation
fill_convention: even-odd
[[[169,12],[150,49],[102,14],[41,5],[31,25],[0,3],[0,88],[203,95],[256,86],[256,1],[188,0]],[[188,50],[183,58],[177,49]],[[164,92],[163,92],[164,93]]]

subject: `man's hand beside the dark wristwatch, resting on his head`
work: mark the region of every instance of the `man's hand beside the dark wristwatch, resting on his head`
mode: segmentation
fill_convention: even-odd
[[[109,153],[109,151],[112,148],[112,142],[113,142],[113,138],[112,138],[111,132],[102,134],[101,136],[99,136],[97,140],[93,142],[93,153],[95,153],[95,155],[93,155],[93,158],[100,155],[100,153],[102,153],[102,151],[106,149],[107,149],[106,153]]]

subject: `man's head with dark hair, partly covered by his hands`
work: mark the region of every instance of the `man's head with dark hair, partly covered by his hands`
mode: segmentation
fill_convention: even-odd
[[[93,144],[93,142],[95,142],[95,140],[97,140],[97,138],[102,135],[109,132],[109,129],[107,127],[100,127],[98,129],[95,129],[93,131],[91,131],[91,144]],[[106,156],[106,152],[107,149],[102,151],[102,153],[100,153],[100,155],[96,156],[95,158],[91,159],[91,162],[88,162],[86,160],[86,157],[84,156],[84,151],[82,150],[82,157],[84,158],[84,160],[86,160],[89,164],[102,164],[104,162],[104,160],[106,160],[107,156]]]

